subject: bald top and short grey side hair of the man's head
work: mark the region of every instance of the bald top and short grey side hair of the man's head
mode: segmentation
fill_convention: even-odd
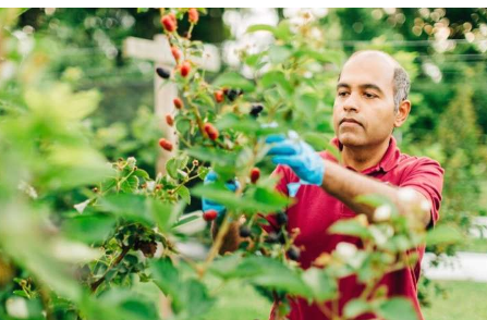
[[[399,62],[388,53],[379,50],[357,51],[349,58],[342,70],[350,64],[374,64],[376,67],[380,67],[380,70],[385,73],[385,76],[390,76],[395,112],[399,109],[399,104],[401,104],[403,100],[407,99],[411,87],[410,76],[404,67],[402,67],[401,64],[399,64]]]

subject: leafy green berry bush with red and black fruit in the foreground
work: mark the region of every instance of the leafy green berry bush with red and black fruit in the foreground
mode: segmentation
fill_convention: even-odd
[[[176,21],[186,13],[191,26],[181,37]],[[426,237],[430,244],[456,241],[451,230],[426,235],[415,224],[414,212],[400,216],[387,199],[363,197],[358,200],[382,212],[377,221],[368,224],[358,214],[330,230],[360,237],[363,248],[341,243],[313,268],[302,270],[294,261],[300,255],[293,245],[299,231],[288,233],[285,218],[279,213],[279,233],[265,234],[259,227],[267,222],[257,213],[278,212],[293,201],[277,193],[276,177],[266,174],[270,169],[266,136],[293,128],[315,148],[336,152],[328,146],[329,93],[341,52],[325,49],[314,36],[320,32],[314,23],[296,27],[283,20],[278,26],[254,25],[249,33],[269,32],[276,38],[259,53],[241,52],[254,76],[245,78],[229,70],[209,84],[191,61],[203,52],[203,44],[191,41],[198,21],[195,10],[162,15],[168,39],[182,58],[166,82],[174,82],[181,93],[181,100],[174,102],[179,113],[171,121],[183,147],[167,162],[166,175],[151,177],[132,157],[107,163],[96,151],[83,126],[99,101],[96,91],[12,81],[22,99],[0,120],[0,147],[5,150],[0,158],[5,169],[0,175],[0,299],[5,306],[22,307],[2,305],[1,318],[158,319],[163,293],[171,301],[169,318],[198,319],[219,298],[203,281],[209,273],[223,281],[248,282],[270,294],[280,305],[279,319],[293,296],[337,301],[337,280],[355,273],[365,284],[361,297],[346,305],[343,316],[324,305],[325,315],[353,319],[374,311],[385,319],[402,319],[394,311],[399,309],[401,317],[414,318],[407,300],[387,298],[383,288],[375,290],[376,284],[386,272],[411,266],[415,257],[407,251]],[[10,41],[11,36],[0,34],[0,40]],[[14,59],[9,52],[5,57]],[[223,100],[215,96],[220,90]],[[210,168],[219,180],[190,189]],[[224,184],[230,179],[239,182],[234,193]],[[69,193],[77,193],[82,200],[72,202],[73,209],[59,208],[56,199]],[[183,214],[191,195],[228,208],[203,261],[181,255],[175,246],[187,238],[181,226],[203,216],[200,211]],[[218,257],[230,223],[242,216],[246,229],[240,232],[249,241],[235,254]],[[145,290],[136,290],[141,287]]]

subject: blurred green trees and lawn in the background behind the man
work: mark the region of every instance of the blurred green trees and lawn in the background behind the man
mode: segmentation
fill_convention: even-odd
[[[206,76],[211,79],[228,69],[248,75],[239,50],[265,50],[272,36],[265,32],[246,34],[246,28],[277,25],[282,17],[297,24],[319,21],[324,30],[316,37],[344,57],[361,49],[380,49],[409,71],[413,109],[394,135],[403,152],[434,158],[446,169],[440,223],[455,225],[465,235],[460,246],[428,248],[424,263],[427,276],[421,285],[425,316],[487,319],[487,308],[478,307],[487,294],[487,10],[207,9],[192,33],[193,39],[211,45],[217,52],[217,69]],[[154,61],[127,57],[123,48],[127,37],[153,39],[161,34],[159,19],[159,11],[154,9],[26,11],[12,29],[16,59],[2,65],[0,82],[7,85],[0,102],[15,97],[15,86],[9,87],[9,81],[24,63],[23,57],[35,50],[36,59],[29,62],[32,76],[41,74],[35,81],[61,79],[75,89],[101,94],[100,108],[85,123],[96,147],[110,160],[136,157],[139,167],[153,174],[160,136],[154,118]],[[180,30],[187,28],[184,22],[179,26]],[[42,72],[37,73],[37,69]],[[25,78],[31,81],[28,76]],[[330,106],[332,98],[330,93]],[[0,115],[4,108],[9,106],[0,103]],[[229,298],[242,296],[238,285],[226,290]],[[267,315],[268,303],[245,290],[249,298],[242,301],[242,311],[252,306],[256,317]],[[224,312],[235,311],[222,306],[218,309],[221,315],[216,311],[214,317],[226,319]]]

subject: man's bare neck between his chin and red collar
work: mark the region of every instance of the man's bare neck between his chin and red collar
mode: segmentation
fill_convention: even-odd
[[[346,167],[353,168],[357,172],[362,172],[380,162],[389,147],[390,138],[383,140],[379,145],[366,147],[346,147],[342,149],[342,162]]]

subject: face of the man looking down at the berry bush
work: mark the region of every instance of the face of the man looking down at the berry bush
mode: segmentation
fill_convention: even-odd
[[[357,54],[345,63],[333,106],[334,132],[343,145],[367,147],[390,136],[394,122],[393,70],[387,58],[374,53]]]

